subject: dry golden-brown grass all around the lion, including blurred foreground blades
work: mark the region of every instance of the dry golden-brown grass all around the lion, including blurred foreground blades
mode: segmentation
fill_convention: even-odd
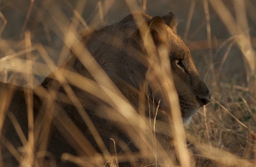
[[[220,150],[227,150],[244,159],[255,160],[256,17],[253,12],[255,9],[256,3],[246,0],[181,0],[179,2],[172,0],[159,2],[150,0],[44,0],[42,2],[2,0],[0,4],[0,81],[24,87],[28,106],[28,133],[24,134],[16,120],[17,117],[12,113],[6,115],[11,95],[16,91],[13,85],[8,85],[8,89],[0,89],[0,131],[2,131],[4,119],[8,117],[15,127],[23,147],[13,147],[12,143],[8,142],[4,136],[1,137],[1,142],[6,145],[20,166],[41,166],[41,157],[50,157],[49,159],[53,157],[45,149],[47,148],[47,138],[50,135],[50,125],[56,114],[55,110],[58,110],[58,108],[52,107],[56,105],[53,102],[56,92],[48,93],[42,89],[35,92],[44,97],[44,105],[49,107],[49,111],[52,111],[48,115],[44,115],[44,121],[40,122],[34,119],[32,112],[36,107],[33,106],[32,89],[39,85],[48,74],[55,71],[56,75],[52,77],[62,83],[71,102],[76,106],[90,131],[93,132],[96,143],[103,153],[102,155],[94,154],[96,150],[91,147],[76,125],[66,115],[60,114],[58,120],[53,124],[64,134],[78,154],[81,156],[91,155],[86,159],[65,153],[62,155],[63,160],[80,166],[94,166],[94,163],[102,164],[108,160],[106,165],[118,166],[117,162],[119,161],[130,160],[134,156],[142,159],[148,156],[143,153],[140,155],[130,153],[130,157],[128,155],[115,157],[110,155],[100,134],[88,119],[88,115],[67,84],[70,83],[94,93],[111,106],[115,106],[122,115],[120,118],[130,121],[129,127],[134,129],[134,132],[131,133],[140,134],[141,140],[144,142],[142,142],[143,147],[151,151],[152,157],[150,158],[154,160],[154,163],[158,160],[164,163],[163,166],[167,166],[167,164],[173,166],[171,160],[166,158],[167,155],[161,148],[162,146],[155,140],[154,134],[148,132],[152,131],[150,128],[154,129],[154,120],[150,123],[152,127],[148,127],[147,120],[130,106],[103,71],[95,76],[97,81],[95,83],[78,74],[56,69],[70,56],[70,48],[80,38],[78,33],[88,27],[98,28],[109,22],[115,22],[129,12],[146,11],[151,16],[155,16],[174,11],[180,21],[178,34],[183,37],[184,42],[191,49],[195,64],[212,93],[210,103],[194,115],[188,127],[184,129],[181,123],[176,122],[177,126],[174,126],[172,131],[176,133],[177,140],[182,141],[178,143],[180,154],[186,155],[187,153],[187,148],[184,147],[185,133],[178,133],[178,131],[184,131],[190,141],[197,144],[199,148],[206,149],[208,152],[206,154],[222,156],[214,149],[214,147],[218,147]],[[86,62],[84,62],[84,66],[86,66]],[[168,68],[165,67],[165,69]],[[156,69],[156,74],[157,72]],[[168,72],[163,74],[164,72],[166,71],[161,71],[159,76],[171,76]],[[76,82],[76,77],[81,80]],[[106,85],[106,83],[109,84]],[[173,85],[171,78],[164,80],[163,83]],[[85,84],[90,87],[84,88]],[[174,101],[171,101],[172,110],[179,109],[179,106],[175,105],[177,95],[174,87],[168,88],[166,88],[166,92],[170,92],[169,96]],[[108,98],[104,97],[102,92],[107,94]],[[127,113],[129,114],[127,115]],[[175,119],[177,117],[180,117],[179,113],[173,115],[172,118],[179,120]],[[43,130],[38,131],[36,128]],[[39,144],[34,143],[37,141],[36,139],[44,137],[45,141]],[[202,143],[205,144],[202,145]],[[35,150],[36,148],[37,150]],[[1,153],[0,162],[6,156],[9,155]],[[186,156],[180,158],[182,166],[189,166],[190,162]],[[49,166],[56,166],[54,161],[48,161],[48,163]],[[154,163],[152,164],[160,166],[160,164]]]

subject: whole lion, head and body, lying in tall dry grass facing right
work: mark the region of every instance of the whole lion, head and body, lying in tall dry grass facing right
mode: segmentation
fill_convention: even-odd
[[[33,90],[33,164],[181,165],[185,155],[179,155],[172,126],[175,119],[189,124],[211,94],[176,26],[172,12],[154,18],[135,13],[81,33],[71,58]],[[1,88],[16,90],[6,84]],[[10,107],[4,111],[12,120],[8,112],[14,113],[28,135],[26,91],[18,88],[8,98]],[[23,151],[26,147],[8,118],[2,130],[2,159],[4,165],[16,166],[25,153],[19,157],[7,145]],[[253,166],[248,161],[188,155],[191,166]]]

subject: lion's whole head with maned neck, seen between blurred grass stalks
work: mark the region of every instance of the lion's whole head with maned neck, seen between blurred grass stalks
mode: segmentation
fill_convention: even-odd
[[[136,13],[126,16],[116,24],[82,36],[82,42],[132,104],[138,103],[138,98],[131,97],[133,94],[127,91],[128,87],[141,91],[142,85],[148,82],[146,75],[150,75],[148,71],[152,63],[149,58],[153,62],[160,61],[162,55],[159,48],[165,48],[178,92],[182,118],[184,123],[188,123],[198,108],[209,102],[210,92],[196,69],[188,47],[176,34],[176,25],[172,12],[154,18],[144,13]],[[148,38],[149,36],[152,38]],[[148,42],[150,39],[152,44]],[[76,52],[76,46],[73,51]],[[81,57],[85,64],[90,62],[86,54],[82,54],[79,59]],[[85,64],[76,61],[74,69],[83,76],[93,78],[88,71],[96,74],[98,69],[90,63]],[[148,95],[156,89],[157,86],[150,84],[148,91],[144,93]],[[155,95],[154,98],[155,101],[162,99],[161,95]],[[164,101],[161,106],[168,107]]]

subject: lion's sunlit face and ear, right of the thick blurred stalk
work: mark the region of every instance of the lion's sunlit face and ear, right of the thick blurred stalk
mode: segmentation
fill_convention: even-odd
[[[210,92],[196,69],[190,50],[176,34],[172,12],[149,21],[156,46],[167,48],[174,84],[178,93],[182,118],[189,123],[192,115],[210,100]],[[161,55],[160,55],[161,56]]]

